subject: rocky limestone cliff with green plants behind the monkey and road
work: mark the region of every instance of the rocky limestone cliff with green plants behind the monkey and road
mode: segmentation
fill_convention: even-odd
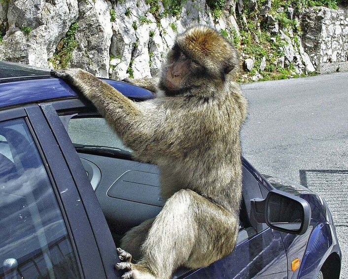
[[[236,44],[241,80],[348,70],[347,10],[286,0],[0,0],[0,60],[152,76],[194,23]]]

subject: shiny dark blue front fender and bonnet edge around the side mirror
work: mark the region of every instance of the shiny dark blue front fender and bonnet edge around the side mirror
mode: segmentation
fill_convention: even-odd
[[[336,253],[339,258],[342,257],[336,229],[326,201],[308,188],[287,179],[267,174],[264,174],[264,177],[276,189],[299,196],[309,202],[312,213],[310,230],[303,236],[285,233],[281,233],[281,236],[288,255],[289,278],[315,278],[331,253]],[[301,259],[301,266],[292,273],[291,261],[297,257]]]

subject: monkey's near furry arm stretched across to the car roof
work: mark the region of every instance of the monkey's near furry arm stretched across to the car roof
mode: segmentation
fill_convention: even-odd
[[[152,117],[141,103],[131,101],[106,82],[81,69],[52,71],[52,75],[66,80],[91,100],[124,143],[134,151],[151,142],[154,129],[159,127],[153,119],[148,121]]]

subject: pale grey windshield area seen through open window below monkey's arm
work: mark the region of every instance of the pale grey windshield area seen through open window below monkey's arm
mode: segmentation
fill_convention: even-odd
[[[68,134],[74,144],[106,146],[131,151],[103,118],[72,118],[68,124]]]

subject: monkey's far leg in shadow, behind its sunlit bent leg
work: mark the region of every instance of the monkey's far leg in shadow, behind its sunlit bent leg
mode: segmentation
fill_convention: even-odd
[[[129,230],[121,239],[121,247],[132,255],[132,261],[140,259],[140,247],[145,241],[148,231],[154,221],[154,218],[142,222]]]

